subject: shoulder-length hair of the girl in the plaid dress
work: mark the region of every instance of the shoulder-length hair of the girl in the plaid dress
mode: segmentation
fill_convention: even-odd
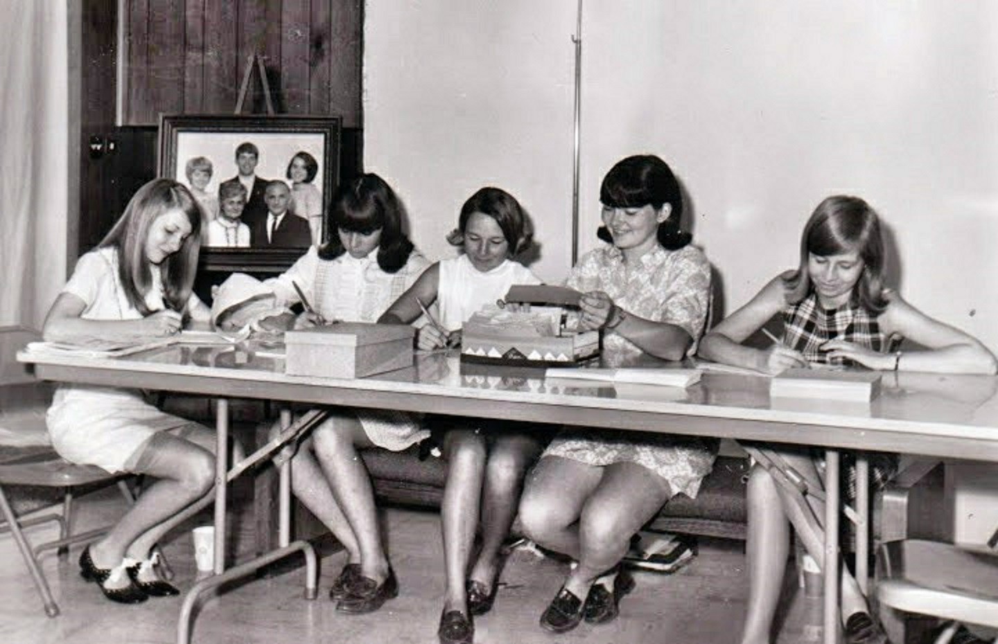
[[[867,311],[880,313],[887,308],[883,296],[884,248],[880,218],[858,196],[836,194],[823,199],[811,212],[800,234],[800,263],[796,272],[783,280],[786,301],[796,304],[812,290],[807,273],[808,255],[841,255],[857,252],[863,260],[863,273],[852,296]]]

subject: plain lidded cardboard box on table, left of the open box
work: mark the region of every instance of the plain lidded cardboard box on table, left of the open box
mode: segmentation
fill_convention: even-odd
[[[412,366],[409,325],[337,322],[284,334],[291,376],[364,378]]]

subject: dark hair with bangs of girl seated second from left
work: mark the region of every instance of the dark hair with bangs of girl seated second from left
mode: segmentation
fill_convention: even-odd
[[[388,183],[373,172],[361,174],[336,188],[325,216],[326,239],[318,247],[321,259],[335,259],[346,249],[340,229],[369,233],[381,230],[377,264],[396,273],[409,261],[413,244],[402,230],[405,208]]]

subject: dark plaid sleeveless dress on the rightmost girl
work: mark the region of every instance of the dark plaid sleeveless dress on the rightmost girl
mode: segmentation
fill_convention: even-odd
[[[796,304],[783,309],[783,346],[795,349],[804,355],[807,362],[834,364],[854,367],[856,364],[844,358],[829,358],[819,347],[828,340],[845,340],[878,353],[893,353],[901,344],[900,336],[886,336],[880,330],[874,314],[858,304],[846,303],[834,309],[826,309],[811,292]],[[869,454],[870,479],[874,489],[883,487],[897,472],[897,456],[893,454]],[[823,464],[821,460],[820,465]],[[843,491],[846,498],[856,495],[856,469],[852,453],[845,453],[842,459]]]

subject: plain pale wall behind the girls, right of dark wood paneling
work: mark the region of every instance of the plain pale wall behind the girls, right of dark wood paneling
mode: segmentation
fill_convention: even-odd
[[[368,4],[365,162],[435,256],[471,189],[510,189],[560,278],[576,2],[442,4]],[[902,294],[998,349],[996,24],[987,0],[586,2],[581,250],[610,165],[659,154],[730,311],[795,264],[822,197],[858,194],[893,232]]]

